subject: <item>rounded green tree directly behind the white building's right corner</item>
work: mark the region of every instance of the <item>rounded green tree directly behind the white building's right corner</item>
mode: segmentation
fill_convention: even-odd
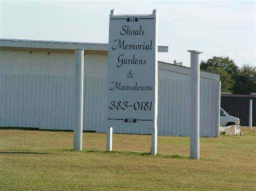
[[[237,76],[239,68],[228,56],[213,56],[213,58],[208,59],[206,62],[201,61],[200,69],[220,74],[221,92],[233,93],[234,77]]]

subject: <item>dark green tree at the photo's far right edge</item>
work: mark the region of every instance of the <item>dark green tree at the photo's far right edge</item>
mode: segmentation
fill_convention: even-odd
[[[233,89],[234,94],[256,93],[256,66],[244,64],[234,79],[236,82]]]

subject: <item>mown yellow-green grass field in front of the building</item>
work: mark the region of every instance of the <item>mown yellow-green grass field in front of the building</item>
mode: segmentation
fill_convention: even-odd
[[[0,129],[0,190],[20,189],[256,189],[256,128],[244,136],[200,138],[200,160],[190,160],[189,137]]]

